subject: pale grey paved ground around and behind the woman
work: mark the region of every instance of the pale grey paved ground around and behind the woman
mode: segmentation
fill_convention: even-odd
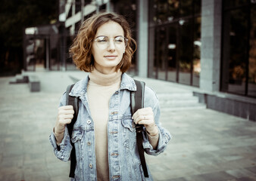
[[[69,163],[55,158],[48,136],[55,125],[58,101],[72,78],[83,72],[36,72],[42,84],[30,93],[27,84],[0,78],[0,180],[65,181]],[[157,94],[194,88],[138,78]],[[164,105],[161,105],[164,107]],[[210,109],[164,109],[161,122],[173,135],[167,150],[147,156],[155,180],[256,180],[256,123]]]

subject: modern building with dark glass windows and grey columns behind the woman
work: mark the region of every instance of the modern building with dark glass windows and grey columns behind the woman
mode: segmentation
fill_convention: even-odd
[[[256,121],[255,0],[60,0],[58,23],[24,29],[24,69],[35,69],[29,50],[40,46],[45,69],[75,69],[68,48],[98,11],[123,14],[132,26],[131,71],[199,87],[195,95],[208,108]]]

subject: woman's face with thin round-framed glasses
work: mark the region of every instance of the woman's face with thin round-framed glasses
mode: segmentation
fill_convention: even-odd
[[[98,27],[92,42],[94,66],[101,73],[115,72],[125,51],[123,28],[120,24],[109,21]]]

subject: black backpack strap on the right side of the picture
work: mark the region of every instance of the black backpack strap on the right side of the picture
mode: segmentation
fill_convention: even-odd
[[[135,81],[137,90],[136,92],[131,92],[131,109],[132,113],[134,114],[138,109],[144,108],[144,93],[145,93],[145,82],[143,81]],[[139,158],[142,163],[142,169],[144,171],[144,176],[148,177],[148,169],[145,164],[145,155],[144,155],[144,149],[142,146],[143,141],[143,125],[142,124],[136,124],[136,141],[137,146],[139,150]]]

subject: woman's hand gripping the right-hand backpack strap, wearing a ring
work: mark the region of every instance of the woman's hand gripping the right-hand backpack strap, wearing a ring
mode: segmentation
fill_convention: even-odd
[[[155,125],[154,112],[151,107],[138,109],[133,114],[135,124],[144,124],[145,129],[151,136],[158,134],[158,127]]]

